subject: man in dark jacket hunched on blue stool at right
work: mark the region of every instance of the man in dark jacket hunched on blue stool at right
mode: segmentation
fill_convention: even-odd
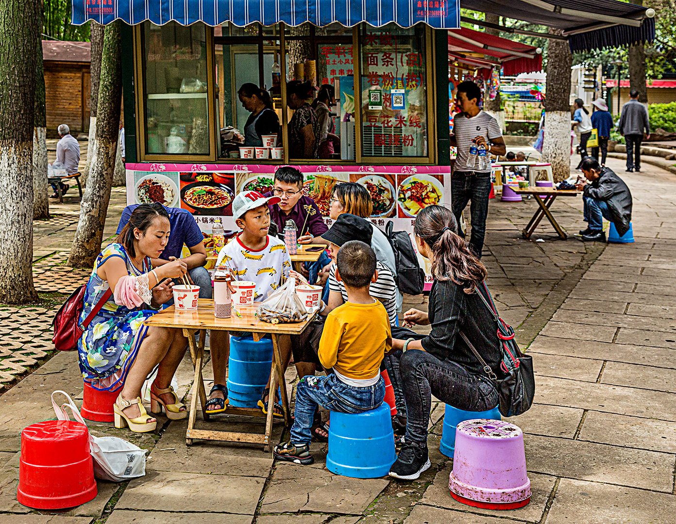
[[[617,234],[629,231],[631,223],[631,192],[627,184],[609,167],[601,167],[594,157],[583,159],[580,165],[587,183],[576,184],[583,191],[584,215],[587,228],[580,231],[583,242],[605,242],[603,219],[611,221]]]

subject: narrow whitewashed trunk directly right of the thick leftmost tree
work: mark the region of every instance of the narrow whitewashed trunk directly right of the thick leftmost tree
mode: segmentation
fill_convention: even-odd
[[[42,20],[42,17],[41,19]],[[42,22],[40,22],[42,23]],[[47,193],[47,108],[42,40],[38,35],[35,64],[35,112],[33,114],[33,219],[49,218]]]

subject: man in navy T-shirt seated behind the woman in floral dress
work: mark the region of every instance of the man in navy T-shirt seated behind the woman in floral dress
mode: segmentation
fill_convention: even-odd
[[[129,221],[132,211],[139,207],[138,204],[128,205],[122,211],[120,224],[118,225],[118,234],[124,228],[124,225]],[[204,267],[207,261],[207,250],[204,247],[204,236],[199,230],[199,226],[195,222],[193,215],[185,209],[180,207],[166,207],[169,213],[170,234],[162,254],[152,259],[153,267],[166,264],[168,261],[176,258],[180,259],[181,251],[183,251],[183,244],[188,246],[190,256],[185,257],[183,261],[188,265],[188,274],[195,284],[199,286],[199,298],[212,298],[211,276],[209,271]],[[178,280],[176,284],[181,284]],[[170,306],[174,303],[171,298],[166,305]]]

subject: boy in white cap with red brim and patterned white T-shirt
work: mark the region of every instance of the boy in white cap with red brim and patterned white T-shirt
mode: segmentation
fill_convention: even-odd
[[[268,293],[281,284],[282,276],[287,276],[291,271],[291,257],[284,242],[268,235],[270,229],[268,204],[276,204],[279,200],[278,196],[266,198],[257,191],[237,194],[233,200],[233,216],[241,232],[220,250],[216,261],[216,267],[228,267],[237,280],[256,282],[254,302],[265,300]],[[230,334],[226,331],[212,330],[210,340],[214,387],[206,404],[206,412],[209,415],[216,415],[226,411],[228,406],[225,374],[230,355]],[[291,354],[290,341],[281,344],[280,349],[283,353],[282,358],[287,363],[287,357]],[[267,391],[260,402],[264,413],[267,413],[268,409],[266,396]],[[277,403],[275,415],[281,415]]]

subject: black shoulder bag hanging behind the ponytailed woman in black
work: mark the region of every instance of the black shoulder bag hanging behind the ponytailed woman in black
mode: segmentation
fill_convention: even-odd
[[[488,300],[483,294],[476,289],[475,292],[481,297],[481,301],[488,308],[488,311],[493,315],[496,323],[498,323],[498,339],[500,340],[500,352],[502,353],[502,362],[500,363],[500,377],[496,371],[493,371],[486,361],[481,358],[477,349],[472,342],[466,337],[463,332],[460,332],[462,340],[472,350],[475,357],[479,359],[483,365],[483,371],[496,384],[498,388],[498,396],[500,397],[499,409],[504,417],[514,417],[514,415],[521,415],[525,413],[533,404],[533,397],[535,396],[535,376],[533,375],[533,358],[529,355],[524,355],[516,345],[514,340],[514,330],[512,326],[506,323],[500,315],[498,309],[493,303],[493,298],[485,283],[483,288],[486,291]]]

